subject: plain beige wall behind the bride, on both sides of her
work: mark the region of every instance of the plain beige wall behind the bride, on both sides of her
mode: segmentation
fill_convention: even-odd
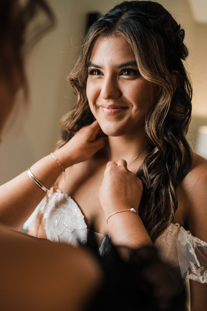
[[[13,114],[0,145],[0,183],[13,178],[39,158],[50,153],[60,138],[59,119],[74,104],[66,76],[75,63],[85,32],[86,13],[105,14],[114,0],[49,0],[58,26],[33,49],[27,62],[30,103],[26,114]],[[191,139],[200,122],[207,124],[206,78],[207,25],[192,19],[187,0],[162,0],[186,30],[190,49],[187,63],[194,86]],[[16,118],[18,117],[18,118]],[[202,117],[202,118],[201,118]],[[14,119],[17,119],[14,122]]]

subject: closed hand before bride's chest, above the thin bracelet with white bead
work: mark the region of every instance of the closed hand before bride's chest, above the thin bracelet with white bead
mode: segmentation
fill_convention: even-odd
[[[99,189],[106,218],[116,211],[132,207],[138,212],[142,189],[142,181],[127,169],[125,160],[118,160],[117,165],[114,161],[108,162]]]

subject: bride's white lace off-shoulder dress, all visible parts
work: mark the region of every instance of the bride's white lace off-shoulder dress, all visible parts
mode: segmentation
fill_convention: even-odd
[[[34,230],[39,211],[42,211],[43,218],[46,219],[47,239],[73,246],[78,246],[79,241],[82,244],[86,243],[88,229],[84,216],[70,196],[57,190],[49,194],[48,203],[45,197],[25,222],[25,230]],[[100,247],[99,252],[103,254],[107,249],[105,235],[97,232],[95,235]],[[194,237],[178,223],[172,223],[156,239],[155,246],[162,260],[180,268],[183,279],[207,283],[206,242]]]

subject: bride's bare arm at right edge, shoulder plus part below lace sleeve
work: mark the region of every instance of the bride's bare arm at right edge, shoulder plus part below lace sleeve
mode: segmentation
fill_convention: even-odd
[[[207,160],[195,155],[192,169],[182,181],[179,192],[182,194],[186,211],[186,229],[193,236],[207,242]],[[207,263],[207,258],[203,259]],[[204,269],[207,267],[205,266]],[[207,284],[190,280],[190,293],[191,311],[205,310]]]

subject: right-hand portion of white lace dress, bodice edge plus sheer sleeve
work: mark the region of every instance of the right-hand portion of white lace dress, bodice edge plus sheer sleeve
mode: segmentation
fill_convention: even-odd
[[[160,257],[180,268],[183,279],[207,283],[207,243],[171,224],[155,241]]]

